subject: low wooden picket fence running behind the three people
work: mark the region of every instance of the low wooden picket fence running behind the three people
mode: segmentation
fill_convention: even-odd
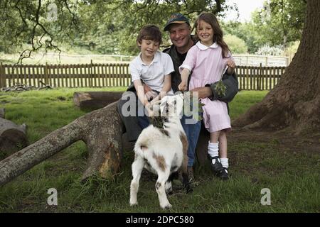
[[[272,89],[285,67],[238,66],[239,89]],[[41,87],[127,87],[131,84],[128,63],[82,65],[0,65],[0,87],[25,84]]]

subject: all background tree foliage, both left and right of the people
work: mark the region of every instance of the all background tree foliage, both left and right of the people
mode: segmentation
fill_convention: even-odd
[[[50,18],[52,4],[55,18]],[[223,29],[245,40],[248,52],[262,45],[287,46],[301,38],[305,7],[299,0],[267,0],[252,16],[253,22],[225,23]],[[233,9],[237,7],[225,0],[0,0],[0,52],[23,50],[22,60],[37,50],[60,51],[61,45],[70,45],[102,54],[136,55],[137,33],[145,24],[162,29],[171,13],[183,13],[192,23],[202,11],[221,18]],[[163,47],[169,45],[164,33]]]

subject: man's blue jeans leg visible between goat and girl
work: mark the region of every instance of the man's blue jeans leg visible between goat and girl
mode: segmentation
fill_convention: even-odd
[[[186,120],[188,121],[186,122]],[[201,121],[194,120],[192,116],[183,115],[181,124],[188,139],[188,167],[192,167],[196,158],[196,146],[201,130]]]

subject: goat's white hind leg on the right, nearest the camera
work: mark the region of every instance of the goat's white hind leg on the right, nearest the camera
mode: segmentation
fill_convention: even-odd
[[[166,190],[164,185],[166,184],[166,181],[168,180],[170,175],[170,170],[159,170],[158,171],[158,179],[156,180],[156,192],[158,193],[160,206],[162,209],[170,209],[171,204],[168,201],[168,198],[166,197]]]

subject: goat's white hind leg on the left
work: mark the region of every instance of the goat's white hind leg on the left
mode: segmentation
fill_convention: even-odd
[[[139,190],[139,180],[142,170],[144,168],[144,158],[140,155],[135,155],[134,162],[132,163],[132,181],[130,184],[130,206],[137,205],[137,194]]]

